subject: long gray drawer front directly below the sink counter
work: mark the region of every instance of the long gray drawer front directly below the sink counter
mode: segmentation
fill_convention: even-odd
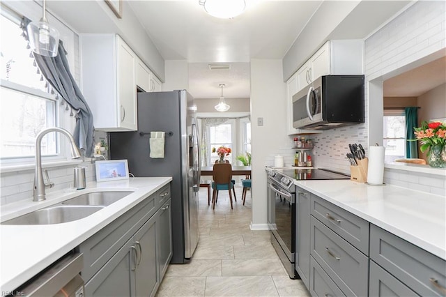
[[[155,213],[155,195],[108,224],[79,246],[84,254],[82,278],[88,281],[115,254],[134,232]]]

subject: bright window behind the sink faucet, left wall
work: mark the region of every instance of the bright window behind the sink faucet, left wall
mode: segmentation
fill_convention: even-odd
[[[31,51],[26,49],[22,36],[20,16],[2,10],[0,17],[0,158],[26,161],[35,155],[38,132],[59,126],[62,107],[33,65]],[[43,156],[59,156],[58,139],[55,133],[44,137]]]

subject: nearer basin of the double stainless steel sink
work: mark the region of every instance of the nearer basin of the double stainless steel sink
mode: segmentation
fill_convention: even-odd
[[[57,205],[21,215],[1,224],[60,224],[86,218],[105,206]]]

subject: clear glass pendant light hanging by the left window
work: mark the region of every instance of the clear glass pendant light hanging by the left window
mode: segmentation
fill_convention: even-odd
[[[41,56],[57,56],[59,48],[59,31],[48,23],[45,17],[46,5],[43,0],[43,16],[38,22],[27,26],[31,50]]]

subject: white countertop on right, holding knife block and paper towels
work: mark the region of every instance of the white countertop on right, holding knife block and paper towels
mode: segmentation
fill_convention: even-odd
[[[446,197],[350,180],[295,185],[446,260]]]

